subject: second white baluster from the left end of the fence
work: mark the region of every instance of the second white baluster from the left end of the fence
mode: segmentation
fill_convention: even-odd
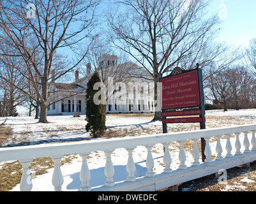
[[[52,175],[52,185],[54,186],[55,191],[61,191],[61,186],[63,185],[63,175],[61,173],[60,161],[63,156],[52,157],[54,161],[54,173]]]

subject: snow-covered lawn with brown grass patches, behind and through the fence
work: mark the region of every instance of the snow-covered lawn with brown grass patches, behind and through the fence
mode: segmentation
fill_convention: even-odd
[[[107,140],[108,137],[115,136],[139,136],[153,135],[162,133],[162,123],[159,121],[150,122],[153,119],[152,114],[138,115],[107,115],[106,125],[108,127],[105,138],[96,140]],[[253,124],[256,119],[256,109],[250,110],[230,110],[223,112],[221,110],[213,110],[206,112],[206,128],[217,128],[222,126],[232,126],[238,124]],[[92,140],[89,133],[85,130],[86,121],[84,116],[54,116],[48,117],[49,124],[38,123],[38,120],[33,117],[16,117],[8,118],[4,123],[5,126],[12,128],[12,136],[2,145],[2,147],[12,147],[17,145],[36,145],[40,143],[52,142],[72,142],[80,140]],[[199,124],[169,124],[170,132],[188,131],[199,129]],[[95,140],[95,139],[94,139]],[[187,154],[186,164],[192,163],[191,149],[185,148]],[[178,154],[179,145],[172,143],[169,147],[172,156],[172,170],[179,166]],[[214,153],[214,152],[213,152]],[[146,174],[146,147],[137,147],[134,152],[134,160],[136,164],[135,176],[140,177]],[[156,173],[163,171],[163,145],[156,144],[153,148],[153,157]],[[91,170],[90,185],[101,186],[105,182],[104,166],[105,154],[102,151],[91,152],[88,159],[88,166]],[[115,182],[126,180],[126,163],[128,154],[124,149],[116,149],[112,154],[112,161],[115,168]],[[61,171],[64,177],[63,191],[77,191],[81,186],[79,173],[81,168],[80,156],[72,156],[72,162],[61,166]],[[3,165],[3,163],[1,163]],[[0,166],[1,169],[1,166]],[[37,175],[33,179],[33,191],[54,191],[51,184],[53,168],[50,168],[49,173]],[[119,173],[118,173],[119,172]],[[35,176],[33,176],[35,177]],[[248,181],[248,180],[243,180]],[[253,181],[253,182],[256,182]],[[250,181],[252,183],[252,181]],[[255,184],[255,183],[254,183]],[[252,183],[252,185],[254,185]],[[19,185],[13,188],[13,191],[19,191]]]

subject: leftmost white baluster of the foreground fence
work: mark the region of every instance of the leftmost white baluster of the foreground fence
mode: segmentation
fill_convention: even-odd
[[[31,176],[29,173],[29,164],[31,163],[32,159],[19,160],[19,161],[23,167],[23,173],[20,180],[20,191],[31,191],[33,184],[32,184]]]

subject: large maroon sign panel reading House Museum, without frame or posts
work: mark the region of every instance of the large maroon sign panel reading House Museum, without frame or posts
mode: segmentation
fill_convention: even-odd
[[[199,106],[197,70],[162,78],[162,109]]]

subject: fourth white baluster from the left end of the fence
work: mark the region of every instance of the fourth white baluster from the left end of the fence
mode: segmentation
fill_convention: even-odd
[[[105,186],[107,187],[113,187],[115,186],[115,182],[113,180],[114,177],[114,166],[111,160],[111,154],[114,150],[109,150],[107,152],[105,152],[106,156],[107,156],[107,161],[106,161],[106,165],[105,165],[105,176],[107,177],[107,180],[105,181]]]

